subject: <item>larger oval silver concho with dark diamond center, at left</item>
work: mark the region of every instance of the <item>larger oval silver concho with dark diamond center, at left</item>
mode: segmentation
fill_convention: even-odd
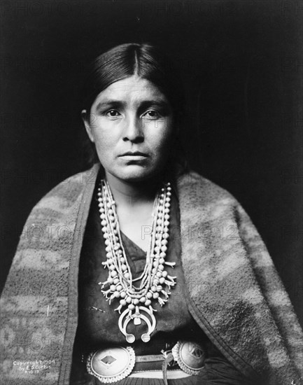
[[[104,384],[120,381],[133,370],[135,353],[132,347],[100,349],[87,357],[87,372]]]

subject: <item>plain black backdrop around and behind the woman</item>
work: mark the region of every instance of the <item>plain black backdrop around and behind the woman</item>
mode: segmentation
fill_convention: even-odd
[[[229,190],[302,323],[302,1],[2,1],[1,286],[29,211],[83,169],[87,62],[155,43],[188,94],[192,168]]]

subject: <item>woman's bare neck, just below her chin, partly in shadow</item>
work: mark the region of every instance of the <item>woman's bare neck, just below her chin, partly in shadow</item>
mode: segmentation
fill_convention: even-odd
[[[118,204],[134,207],[155,200],[155,194],[160,184],[158,179],[128,182],[118,179],[108,172],[105,172],[105,174],[113,197]]]

